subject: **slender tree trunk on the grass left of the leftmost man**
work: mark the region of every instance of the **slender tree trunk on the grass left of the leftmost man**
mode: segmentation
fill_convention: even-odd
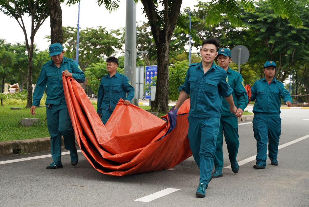
[[[30,108],[32,105],[32,58],[34,48],[33,45],[34,45],[34,36],[31,36],[30,47],[28,52],[27,106],[25,108]]]

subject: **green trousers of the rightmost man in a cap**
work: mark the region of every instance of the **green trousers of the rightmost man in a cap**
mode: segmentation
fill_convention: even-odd
[[[252,122],[257,149],[256,163],[266,164],[267,142],[269,158],[277,159],[281,135],[281,118],[279,115],[271,117],[268,114],[254,114]]]

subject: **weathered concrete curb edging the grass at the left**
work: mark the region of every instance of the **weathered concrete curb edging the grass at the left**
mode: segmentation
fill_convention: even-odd
[[[61,145],[64,146],[63,137]],[[50,150],[50,137],[0,142],[0,157],[12,155],[15,151],[39,152],[46,150]]]

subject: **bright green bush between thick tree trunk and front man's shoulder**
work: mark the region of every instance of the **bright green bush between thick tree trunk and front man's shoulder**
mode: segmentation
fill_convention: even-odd
[[[178,87],[184,83],[188,66],[189,62],[183,60],[177,61],[173,66],[168,68],[169,100],[177,101],[179,96]]]

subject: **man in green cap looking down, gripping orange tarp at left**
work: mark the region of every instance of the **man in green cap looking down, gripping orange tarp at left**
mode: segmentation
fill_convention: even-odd
[[[50,151],[53,163],[46,169],[62,168],[61,163],[61,135],[67,150],[70,150],[71,164],[78,162],[75,147],[75,136],[72,122],[66,106],[62,85],[62,74],[72,77],[79,83],[85,81],[85,75],[75,60],[63,56],[64,51],[60,43],[49,46],[49,60],[42,68],[36,87],[33,92],[30,112],[35,115],[36,106],[40,106],[40,100],[46,88],[46,117],[47,128],[50,134]]]

